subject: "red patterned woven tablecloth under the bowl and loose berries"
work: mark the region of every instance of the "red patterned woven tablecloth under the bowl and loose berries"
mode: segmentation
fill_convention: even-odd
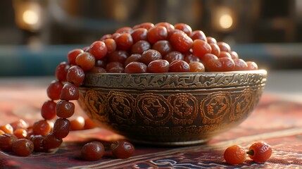
[[[2,82],[3,83],[3,82]],[[18,80],[0,84],[0,125],[23,118],[40,119],[39,110],[46,97],[45,84],[32,85]],[[83,112],[77,106],[77,113]],[[70,132],[54,153],[18,157],[0,152],[0,168],[234,168],[222,154],[232,144],[246,149],[256,141],[272,146],[272,156],[265,163],[246,161],[237,168],[302,168],[302,103],[264,93],[251,116],[207,144],[185,147],[137,145],[134,156],[115,159],[110,151],[100,161],[82,161],[80,149],[92,139],[120,137],[104,129]]]

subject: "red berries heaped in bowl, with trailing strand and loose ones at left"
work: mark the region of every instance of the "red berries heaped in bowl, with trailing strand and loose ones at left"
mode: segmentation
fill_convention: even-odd
[[[32,126],[18,120],[0,127],[1,151],[17,156],[46,152],[58,148],[70,130],[94,127],[94,123],[79,117],[73,101],[87,73],[182,73],[257,70],[253,61],[239,58],[229,44],[206,37],[201,30],[192,31],[184,23],[141,23],[121,27],[112,35],[103,35],[84,49],[73,49],[68,61],[56,67],[57,80],[47,88],[49,100],[42,105],[43,120]],[[51,121],[55,121],[51,123]],[[128,158],[134,146],[125,140],[110,145],[113,156]],[[82,147],[82,158],[98,160],[105,148],[101,142]]]

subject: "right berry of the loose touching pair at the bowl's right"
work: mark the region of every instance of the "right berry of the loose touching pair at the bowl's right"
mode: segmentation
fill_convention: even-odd
[[[264,163],[272,156],[272,148],[266,142],[256,142],[250,146],[246,154],[253,161]]]

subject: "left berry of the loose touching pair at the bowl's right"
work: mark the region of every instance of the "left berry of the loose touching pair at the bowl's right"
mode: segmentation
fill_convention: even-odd
[[[244,161],[246,160],[246,151],[242,146],[238,146],[238,145],[229,146],[225,150],[225,153],[223,154],[223,158],[225,158],[226,163],[232,165],[244,163]]]

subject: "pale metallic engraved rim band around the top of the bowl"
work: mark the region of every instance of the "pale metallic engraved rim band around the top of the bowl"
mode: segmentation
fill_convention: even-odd
[[[266,70],[204,73],[90,73],[81,87],[108,89],[208,89],[264,85]]]

